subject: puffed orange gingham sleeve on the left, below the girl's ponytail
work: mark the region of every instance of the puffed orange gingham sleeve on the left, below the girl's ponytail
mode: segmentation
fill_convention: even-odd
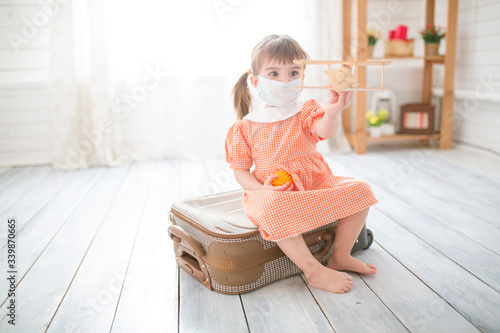
[[[236,122],[227,132],[224,148],[226,150],[226,161],[231,169],[250,170],[253,164],[252,154],[243,135],[243,123],[241,121]]]

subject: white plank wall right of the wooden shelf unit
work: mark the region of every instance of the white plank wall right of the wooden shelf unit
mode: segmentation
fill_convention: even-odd
[[[442,20],[446,5],[436,14]],[[500,1],[460,1],[453,140],[500,153]],[[442,23],[441,23],[442,24]]]

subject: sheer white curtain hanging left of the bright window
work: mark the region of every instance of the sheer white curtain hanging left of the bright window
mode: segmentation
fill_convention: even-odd
[[[104,9],[103,0],[66,1],[52,20],[48,86],[56,168],[130,160],[111,107],[114,83]]]

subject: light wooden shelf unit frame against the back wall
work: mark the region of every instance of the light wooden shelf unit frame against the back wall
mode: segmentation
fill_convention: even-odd
[[[342,41],[343,41],[343,60],[366,61],[368,59],[368,40],[366,31],[367,23],[367,0],[358,0],[357,6],[357,53],[351,55],[351,0],[343,0],[342,10]],[[425,24],[434,24],[434,0],[426,0]],[[443,64],[445,68],[444,74],[444,94],[442,101],[441,112],[441,128],[436,129],[438,133],[432,135],[416,135],[416,134],[396,134],[391,136],[383,136],[380,138],[372,138],[366,133],[366,92],[358,91],[356,93],[356,109],[354,132],[351,130],[351,110],[342,112],[342,125],[347,135],[347,139],[354,151],[357,154],[366,152],[366,143],[368,141],[394,141],[394,140],[438,140],[441,149],[449,149],[451,147],[452,135],[452,117],[453,117],[453,98],[454,98],[454,80],[455,80],[455,48],[457,38],[457,17],[458,17],[458,0],[448,0],[448,17],[446,26],[446,54],[439,56],[424,56],[424,57],[401,57],[391,58],[398,61],[400,59],[422,59],[424,62],[423,68],[423,86],[422,86],[422,103],[430,103],[432,90],[432,66],[434,64]],[[358,68],[358,82],[362,86],[366,86],[366,67]]]

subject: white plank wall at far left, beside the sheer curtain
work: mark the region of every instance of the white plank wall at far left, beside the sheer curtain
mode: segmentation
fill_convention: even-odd
[[[0,165],[50,162],[49,3],[0,0]]]

